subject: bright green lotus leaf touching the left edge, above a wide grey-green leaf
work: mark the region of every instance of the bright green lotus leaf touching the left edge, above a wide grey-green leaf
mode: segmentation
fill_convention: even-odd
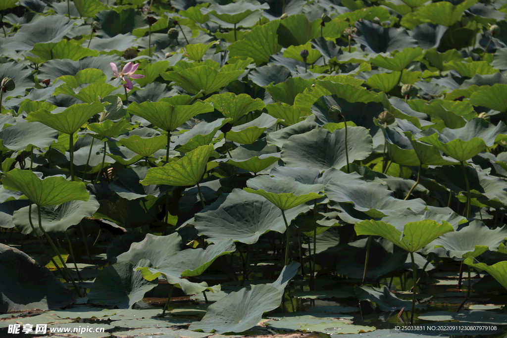
[[[30,201],[43,207],[74,200],[88,201],[90,198],[82,182],[69,182],[61,176],[40,179],[29,170],[14,168],[4,172],[2,183],[5,189],[20,191]]]

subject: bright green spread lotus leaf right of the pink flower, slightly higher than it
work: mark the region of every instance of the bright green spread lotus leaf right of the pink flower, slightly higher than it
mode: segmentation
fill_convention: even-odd
[[[189,93],[210,94],[220,90],[229,82],[236,80],[244,71],[217,71],[209,66],[187,68],[182,71],[167,71],[160,75],[164,80],[174,81],[177,86],[183,87]]]

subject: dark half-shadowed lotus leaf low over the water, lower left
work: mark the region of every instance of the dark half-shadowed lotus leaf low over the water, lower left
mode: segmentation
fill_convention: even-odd
[[[88,292],[91,303],[105,303],[120,309],[130,309],[141,301],[144,293],[158,285],[158,280],[142,278],[135,266],[127,261],[118,262],[100,270]]]

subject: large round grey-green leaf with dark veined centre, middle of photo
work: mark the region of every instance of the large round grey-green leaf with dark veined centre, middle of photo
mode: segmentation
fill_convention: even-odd
[[[287,222],[308,210],[303,204],[285,213]],[[282,213],[264,197],[234,189],[228,196],[221,196],[203,212],[195,215],[195,229],[206,241],[216,243],[232,238],[246,244],[257,243],[268,231],[285,232]]]

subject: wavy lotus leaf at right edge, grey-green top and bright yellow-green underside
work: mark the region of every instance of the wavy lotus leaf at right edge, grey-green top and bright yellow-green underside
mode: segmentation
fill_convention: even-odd
[[[416,140],[439,148],[455,160],[464,162],[473,158],[488,146],[504,140],[507,126],[503,122],[495,127],[484,119],[473,119],[463,128],[444,128],[442,133],[429,128],[415,135]]]

